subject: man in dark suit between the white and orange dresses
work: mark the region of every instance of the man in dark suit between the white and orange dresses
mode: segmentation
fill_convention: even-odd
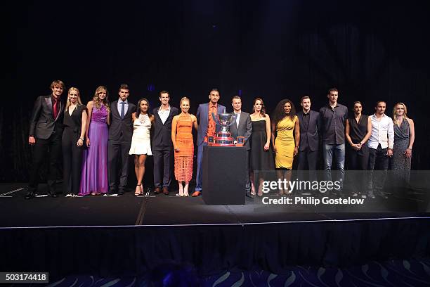
[[[163,192],[169,195],[171,183],[171,158],[173,157],[173,144],[171,143],[171,121],[178,115],[178,108],[169,105],[170,95],[168,91],[160,91],[159,101],[161,106],[155,108],[152,113],[155,116],[154,134],[152,136],[152,154],[154,155],[154,193]],[[160,170],[163,177],[160,177]]]

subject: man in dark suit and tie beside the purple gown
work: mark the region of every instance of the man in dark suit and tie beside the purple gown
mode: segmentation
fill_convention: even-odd
[[[109,191],[105,196],[117,196],[124,194],[129,175],[129,151],[131,136],[133,135],[133,121],[131,113],[136,112],[136,106],[129,103],[129,86],[122,84],[119,87],[118,101],[110,105],[110,128],[107,146],[107,160]],[[121,158],[121,168],[118,171],[118,158]],[[119,174],[119,184],[117,177]]]

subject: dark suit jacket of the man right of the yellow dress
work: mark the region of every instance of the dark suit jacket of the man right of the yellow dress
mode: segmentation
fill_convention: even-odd
[[[304,151],[307,147],[310,151],[318,151],[318,133],[320,131],[320,113],[309,110],[309,124],[306,129],[303,120],[303,110],[297,113],[300,123],[300,144],[299,151]]]

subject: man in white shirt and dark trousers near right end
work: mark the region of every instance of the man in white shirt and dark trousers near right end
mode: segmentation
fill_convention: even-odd
[[[394,129],[393,120],[385,115],[386,103],[378,101],[374,107],[375,113],[370,117],[372,120],[372,135],[367,146],[369,146],[369,171],[368,196],[374,198],[374,193],[387,198],[384,188],[386,171],[389,166],[389,158],[393,155]],[[374,170],[382,170],[374,174]]]

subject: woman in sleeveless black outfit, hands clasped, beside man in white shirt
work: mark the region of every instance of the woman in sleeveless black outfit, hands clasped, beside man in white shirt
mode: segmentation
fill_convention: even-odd
[[[367,170],[367,162],[369,161],[369,147],[366,142],[372,134],[372,120],[368,115],[363,115],[361,112],[363,106],[359,101],[354,102],[354,115],[346,120],[345,136],[351,147],[349,154],[349,170]],[[353,196],[358,196],[360,190],[366,184],[366,178],[363,172],[360,173],[356,182],[356,192]],[[366,198],[365,193],[362,197]]]

